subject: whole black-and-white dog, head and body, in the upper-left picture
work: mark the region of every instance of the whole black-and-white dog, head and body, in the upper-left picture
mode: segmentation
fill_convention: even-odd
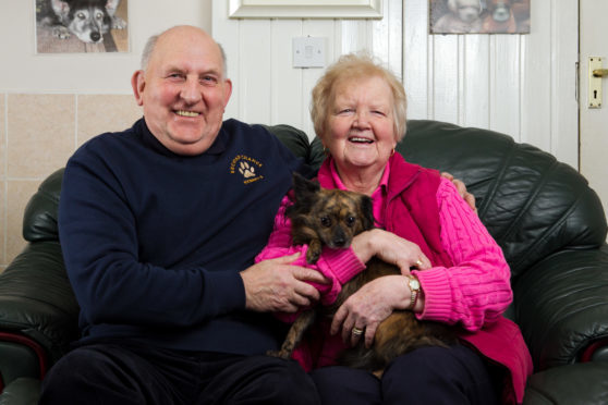
[[[126,28],[115,15],[119,4],[120,0],[36,0],[36,16],[57,38],[73,34],[83,42],[98,44],[110,29]]]

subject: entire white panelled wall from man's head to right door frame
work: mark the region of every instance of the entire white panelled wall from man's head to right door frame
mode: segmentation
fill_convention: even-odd
[[[291,65],[291,39],[327,38],[327,62],[368,49],[402,75],[409,116],[507,133],[577,168],[577,0],[532,0],[530,35],[428,35],[428,0],[384,0],[381,21],[229,20],[214,35],[235,90],[227,113],[288,123],[313,136],[311,89],[320,69]]]

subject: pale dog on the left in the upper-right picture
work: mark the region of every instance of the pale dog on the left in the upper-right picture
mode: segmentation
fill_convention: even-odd
[[[482,29],[481,0],[448,0],[449,13],[435,23],[434,32],[442,34],[478,33]]]

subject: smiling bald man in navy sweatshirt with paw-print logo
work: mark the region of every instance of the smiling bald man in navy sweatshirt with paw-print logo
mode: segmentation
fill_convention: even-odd
[[[253,266],[291,173],[260,126],[223,120],[221,48],[179,26],[150,38],[135,99],[144,118],[68,162],[59,229],[82,339],[47,376],[41,404],[314,404],[294,361],[265,356],[271,311],[318,299],[292,258]]]

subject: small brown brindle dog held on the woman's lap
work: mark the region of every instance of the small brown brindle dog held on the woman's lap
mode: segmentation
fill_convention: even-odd
[[[292,240],[295,245],[308,244],[306,260],[318,260],[323,246],[349,247],[353,237],[374,228],[372,199],[363,194],[340,189],[324,189],[316,182],[294,174],[295,202],[287,210],[292,221]],[[367,269],[345,283],[336,303],[302,312],[292,324],[279,352],[271,355],[290,358],[305,331],[317,315],[332,317],[344,300],[365,283],[400,270],[377,258],[367,262]],[[405,281],[403,281],[405,283]],[[447,346],[457,342],[455,334],[446,326],[423,322],[410,310],[396,310],[376,330],[374,344],[366,348],[360,344],[342,353],[339,364],[370,372],[380,372],[394,357],[427,345]]]

